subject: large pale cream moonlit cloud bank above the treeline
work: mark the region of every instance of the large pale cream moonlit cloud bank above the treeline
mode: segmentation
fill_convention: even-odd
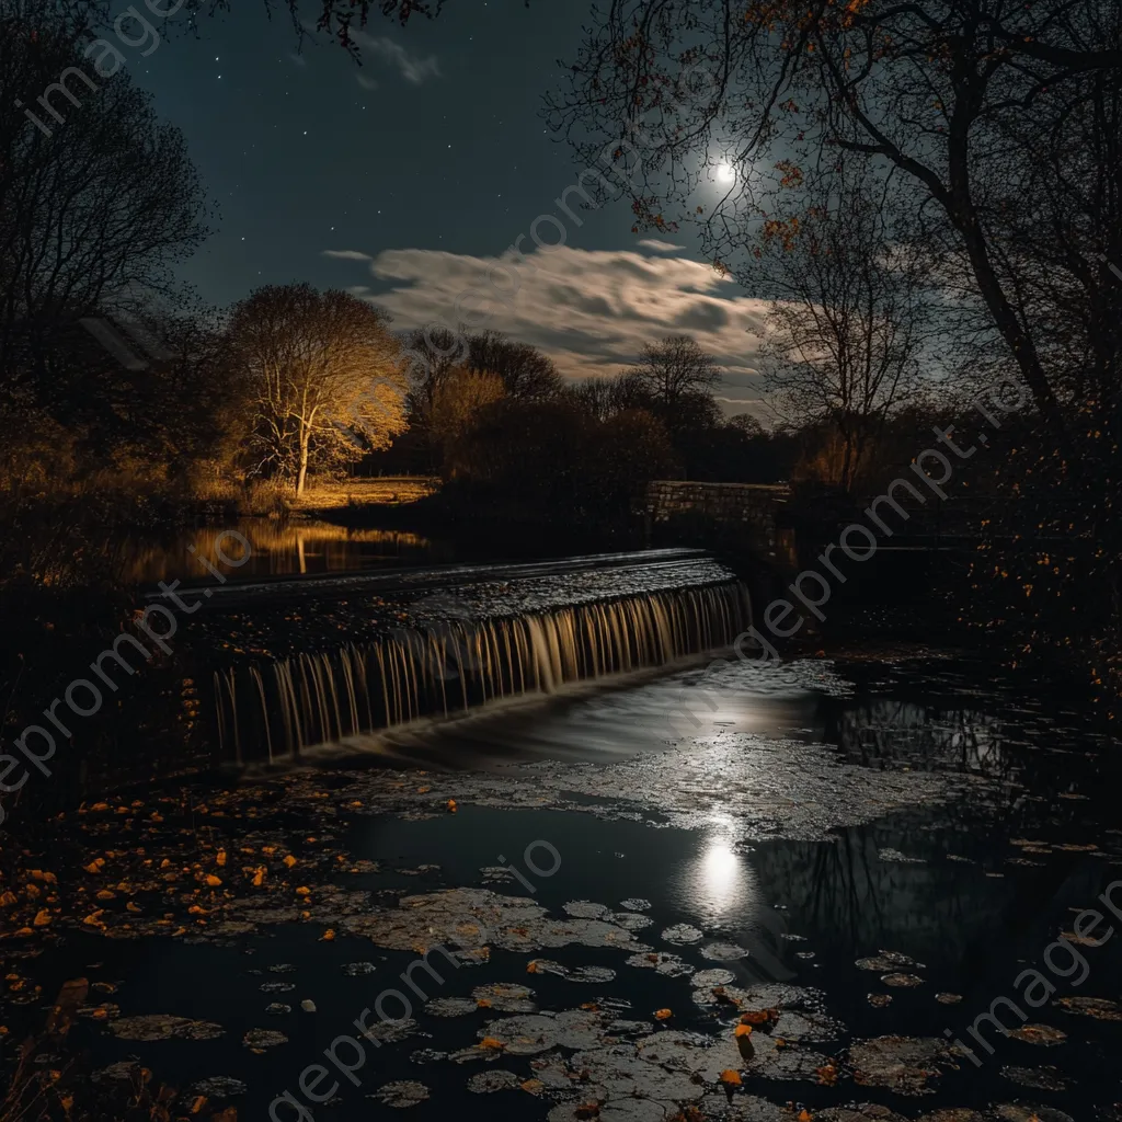
[[[350,291],[386,309],[395,329],[475,320],[479,329],[540,347],[570,378],[616,374],[644,343],[686,333],[716,356],[719,393],[730,405],[758,396],[767,303],[699,261],[571,246],[533,250],[521,261],[514,252],[472,257],[438,249],[325,256],[367,263],[378,284]]]

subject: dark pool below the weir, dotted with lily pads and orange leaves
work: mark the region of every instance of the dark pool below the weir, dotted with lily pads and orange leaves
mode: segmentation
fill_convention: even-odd
[[[1113,741],[962,651],[833,654],[88,803],[26,856],[9,1039],[71,982],[114,1118],[141,1068],[277,1122],[1115,1118]]]

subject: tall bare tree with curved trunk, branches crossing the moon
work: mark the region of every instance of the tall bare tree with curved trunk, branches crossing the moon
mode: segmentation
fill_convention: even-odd
[[[995,223],[1052,135],[1042,120],[1058,123],[1087,79],[1116,89],[1116,4],[609,0],[601,17],[548,111],[589,166],[613,172],[637,227],[697,222],[710,258],[747,280],[755,222],[793,212],[808,171],[837,153],[872,156],[945,229],[1032,399],[1063,429],[1056,371],[1017,275],[999,266]],[[1027,114],[1026,149],[1013,132]],[[1097,251],[1116,237],[1097,231]]]

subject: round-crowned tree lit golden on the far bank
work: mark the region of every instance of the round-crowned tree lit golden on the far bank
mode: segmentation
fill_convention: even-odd
[[[309,468],[388,448],[405,429],[405,375],[387,316],[350,293],[268,285],[238,304],[230,339],[251,390],[261,470]]]

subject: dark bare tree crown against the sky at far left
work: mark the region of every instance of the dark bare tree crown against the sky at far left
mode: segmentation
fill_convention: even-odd
[[[183,136],[156,119],[126,72],[101,76],[81,49],[89,29],[54,8],[28,0],[0,21],[0,395],[9,403],[43,388],[52,340],[67,325],[169,293],[173,266],[208,233]]]

